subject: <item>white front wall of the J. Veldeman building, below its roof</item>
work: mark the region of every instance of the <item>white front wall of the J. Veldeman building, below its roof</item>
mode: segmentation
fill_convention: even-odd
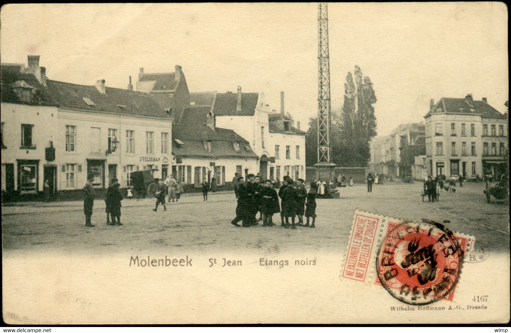
[[[88,173],[95,174],[93,185],[98,189],[107,187],[111,178],[118,178],[125,188],[130,185],[130,171],[171,169],[170,118],[12,103],[2,103],[1,118],[5,145],[2,150],[3,191],[36,194],[43,191],[47,179],[54,193],[76,191],[84,186]],[[21,145],[24,143],[22,124],[32,125],[32,147]],[[161,133],[166,133],[166,140],[162,140]],[[114,136],[119,146],[112,152],[109,141]],[[50,141],[55,149],[53,161],[45,157]],[[8,183],[12,182],[10,179],[14,180],[12,184]]]

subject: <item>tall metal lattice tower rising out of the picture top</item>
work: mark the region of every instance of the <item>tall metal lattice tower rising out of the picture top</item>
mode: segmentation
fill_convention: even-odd
[[[318,163],[332,163],[327,3],[318,4]]]

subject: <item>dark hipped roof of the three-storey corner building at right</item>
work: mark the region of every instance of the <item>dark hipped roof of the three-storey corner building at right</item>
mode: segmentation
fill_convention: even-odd
[[[483,101],[469,101],[463,98],[441,98],[426,116],[436,113],[480,114],[483,118],[505,118],[502,113]]]

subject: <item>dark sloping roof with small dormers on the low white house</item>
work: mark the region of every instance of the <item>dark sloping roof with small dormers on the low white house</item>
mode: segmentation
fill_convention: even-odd
[[[173,125],[172,138],[179,139],[183,145],[172,140],[172,153],[176,156],[198,156],[198,157],[241,157],[257,158],[248,144],[248,141],[236,134],[233,130],[216,128],[213,131],[210,127],[201,125]],[[211,140],[211,152],[204,149],[203,142]],[[233,142],[239,142],[240,150],[237,152]],[[247,146],[249,150],[245,149]]]

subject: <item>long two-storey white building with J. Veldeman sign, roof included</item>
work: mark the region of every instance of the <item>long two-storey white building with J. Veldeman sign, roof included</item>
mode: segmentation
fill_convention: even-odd
[[[101,192],[130,172],[172,164],[172,121],[147,93],[49,80],[39,57],[2,64],[2,191],[81,198],[87,174]]]

